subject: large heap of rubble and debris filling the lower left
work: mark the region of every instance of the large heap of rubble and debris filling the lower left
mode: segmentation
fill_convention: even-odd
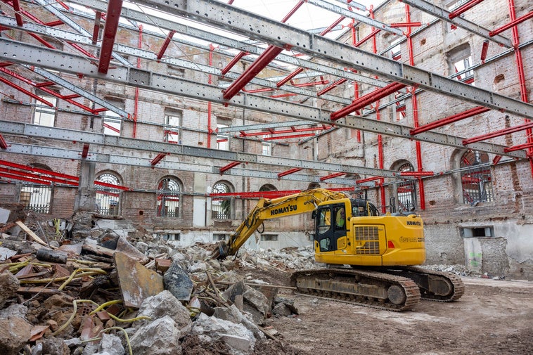
[[[265,325],[293,300],[246,270],[318,267],[311,250],[219,262],[214,244],[16,217],[0,223],[0,354],[297,354]]]

